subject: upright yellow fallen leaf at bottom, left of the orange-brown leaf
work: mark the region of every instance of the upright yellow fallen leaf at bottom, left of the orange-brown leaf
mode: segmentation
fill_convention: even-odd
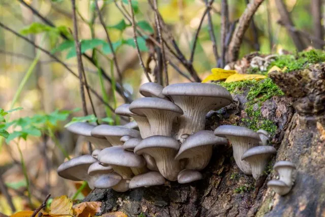
[[[53,216],[53,214],[57,214],[64,217],[70,217],[73,214],[72,200],[66,195],[54,198],[51,203],[49,213],[51,216]]]

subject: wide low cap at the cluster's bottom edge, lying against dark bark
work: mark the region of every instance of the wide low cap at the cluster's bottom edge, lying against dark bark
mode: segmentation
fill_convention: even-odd
[[[151,171],[144,174],[136,175],[131,179],[128,188],[135,189],[153,185],[164,184],[166,179],[159,172]]]

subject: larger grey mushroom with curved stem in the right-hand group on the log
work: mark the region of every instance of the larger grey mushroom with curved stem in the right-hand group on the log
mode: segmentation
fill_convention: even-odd
[[[258,142],[261,141],[258,133],[252,131],[249,128],[239,127],[234,125],[222,125],[215,129],[214,135],[220,137],[226,137],[233,146],[234,159],[237,166],[245,174],[252,174],[252,170],[249,164],[241,160],[243,153],[249,148],[258,145]]]

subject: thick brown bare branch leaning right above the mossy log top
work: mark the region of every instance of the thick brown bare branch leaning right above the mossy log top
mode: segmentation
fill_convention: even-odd
[[[239,55],[239,49],[242,44],[244,34],[249,26],[249,23],[257,11],[258,7],[263,3],[264,0],[253,0],[249,3],[244,13],[239,18],[239,23],[235,29],[234,37],[232,37],[229,48],[228,48],[228,61],[236,61]]]

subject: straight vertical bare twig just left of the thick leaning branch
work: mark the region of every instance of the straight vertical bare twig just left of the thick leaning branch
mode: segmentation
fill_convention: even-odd
[[[226,53],[226,43],[225,38],[228,31],[229,25],[229,12],[228,12],[228,1],[221,0],[221,29],[220,29],[220,39],[221,39],[221,58],[220,58],[220,68],[225,65],[225,53]]]

